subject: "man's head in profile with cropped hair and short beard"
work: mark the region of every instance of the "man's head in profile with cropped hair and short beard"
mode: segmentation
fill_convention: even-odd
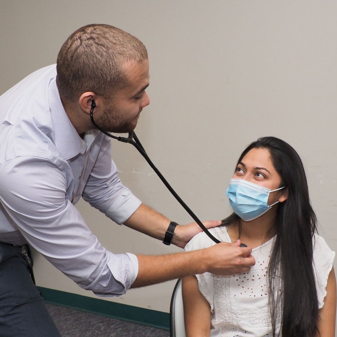
[[[57,58],[56,84],[63,105],[72,106],[69,114],[76,130],[90,128],[94,99],[95,121],[106,131],[129,132],[137,124],[140,112],[150,100],[149,63],[144,44],[113,26],[84,26],[62,45]],[[66,109],[67,111],[67,109]]]

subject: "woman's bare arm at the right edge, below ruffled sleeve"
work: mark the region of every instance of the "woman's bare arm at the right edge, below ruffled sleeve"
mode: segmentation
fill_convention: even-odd
[[[327,282],[327,295],[323,308],[319,309],[317,328],[319,333],[315,337],[335,337],[336,324],[336,277],[332,267]]]

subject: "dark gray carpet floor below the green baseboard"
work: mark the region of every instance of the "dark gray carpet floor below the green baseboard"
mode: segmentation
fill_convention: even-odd
[[[115,318],[45,304],[62,337],[168,337],[170,332]]]

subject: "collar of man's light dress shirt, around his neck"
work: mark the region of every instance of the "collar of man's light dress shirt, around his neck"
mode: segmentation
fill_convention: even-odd
[[[79,153],[85,153],[95,136],[98,134],[98,131],[91,130],[87,132],[84,137],[85,141],[82,140],[63,108],[55,78],[49,84],[48,97],[54,127],[55,146],[58,148],[65,160],[73,158]],[[90,134],[90,141],[87,139],[87,134]],[[86,145],[86,143],[88,145]]]

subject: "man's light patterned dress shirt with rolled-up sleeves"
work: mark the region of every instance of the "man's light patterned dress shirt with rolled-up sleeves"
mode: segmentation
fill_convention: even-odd
[[[0,96],[0,242],[28,242],[80,287],[121,295],[136,256],[103,248],[74,204],[82,196],[122,224],[141,201],[118,178],[109,137],[76,132],[55,80],[56,65],[44,67]]]

